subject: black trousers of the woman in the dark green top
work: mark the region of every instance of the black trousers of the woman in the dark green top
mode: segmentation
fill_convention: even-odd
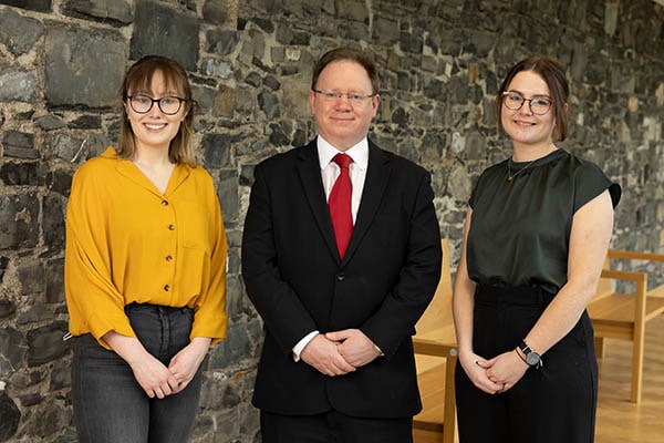
[[[513,350],[554,295],[542,288],[478,286],[473,346],[491,359]],[[455,372],[460,443],[592,443],[598,365],[588,312],[509,391],[477,389],[460,363]]]

